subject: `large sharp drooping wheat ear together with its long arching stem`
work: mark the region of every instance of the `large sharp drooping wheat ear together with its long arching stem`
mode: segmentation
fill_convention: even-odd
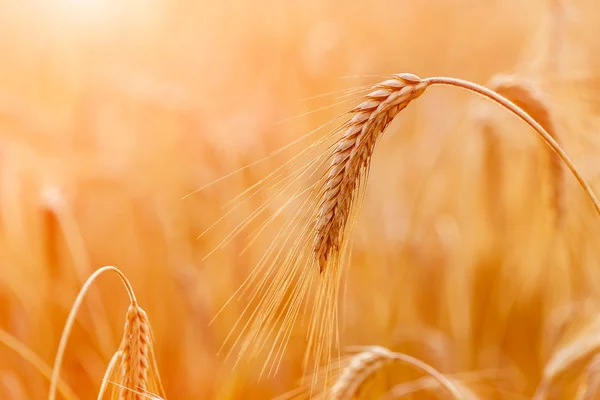
[[[338,259],[339,250],[347,239],[348,221],[356,202],[357,188],[366,179],[377,139],[390,122],[429,86],[446,85],[465,89],[503,106],[531,126],[564,162],[590,197],[600,215],[600,202],[579,173],[569,156],[548,131],[531,115],[494,90],[478,84],[449,77],[421,79],[411,74],[398,74],[382,82],[366,100],[351,110],[353,118],[337,142],[330,163],[325,190],[320,199],[313,250],[321,272]],[[336,257],[331,257],[331,255]],[[329,260],[334,260],[333,263]]]

